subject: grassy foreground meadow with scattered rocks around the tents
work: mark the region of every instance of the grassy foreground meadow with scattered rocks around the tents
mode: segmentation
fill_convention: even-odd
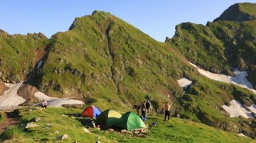
[[[84,120],[71,117],[75,113],[81,113],[82,109],[49,108],[37,110],[34,108],[19,109],[19,125],[9,127],[0,135],[0,140],[12,140],[13,142],[255,142],[236,134],[224,132],[206,126],[173,117],[169,122],[164,122],[164,115],[150,115],[147,123],[156,122],[156,126],[150,126],[150,132],[146,138],[118,135],[106,130],[92,129],[86,134]],[[36,124],[39,127],[23,130],[21,124],[29,122],[32,117],[40,117]],[[58,131],[59,133],[55,134]],[[67,134],[66,140],[58,138]]]

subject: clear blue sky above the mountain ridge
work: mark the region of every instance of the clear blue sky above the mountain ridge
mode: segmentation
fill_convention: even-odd
[[[0,29],[9,34],[42,32],[49,38],[65,32],[75,19],[94,10],[107,11],[158,41],[172,37],[175,26],[213,21],[238,0],[4,0]],[[247,2],[256,3],[256,0]]]

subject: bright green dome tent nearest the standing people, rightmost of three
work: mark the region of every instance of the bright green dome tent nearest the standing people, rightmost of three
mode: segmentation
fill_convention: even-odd
[[[123,114],[123,116],[119,120],[119,124],[117,124],[117,127],[129,131],[137,128],[147,128],[144,122],[139,117],[139,115],[132,111]]]

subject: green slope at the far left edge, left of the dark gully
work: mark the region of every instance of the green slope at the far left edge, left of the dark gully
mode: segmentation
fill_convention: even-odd
[[[6,83],[27,79],[48,39],[43,34],[9,35],[0,31],[0,78]]]

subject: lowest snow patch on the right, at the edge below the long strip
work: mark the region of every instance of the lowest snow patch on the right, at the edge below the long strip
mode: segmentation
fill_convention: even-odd
[[[245,118],[254,118],[253,115],[251,115],[251,111],[245,109],[239,101],[232,100],[230,104],[230,106],[222,105],[222,108],[229,113],[230,117],[239,117],[241,115]]]

